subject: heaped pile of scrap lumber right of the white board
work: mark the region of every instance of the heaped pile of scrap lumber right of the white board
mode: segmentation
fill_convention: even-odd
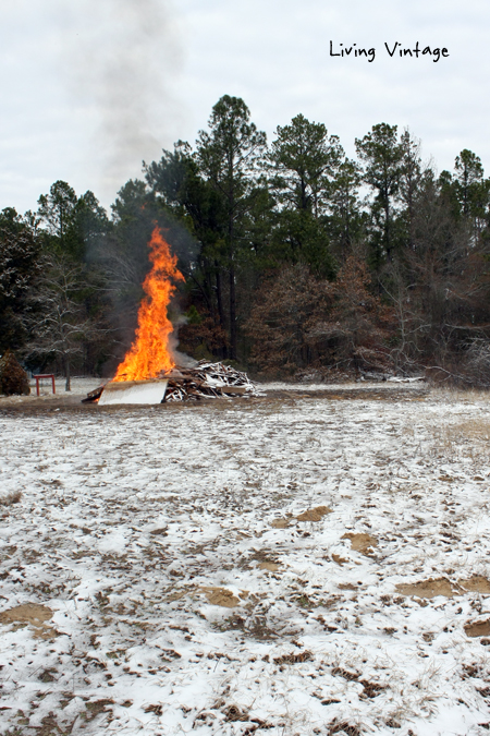
[[[169,382],[163,399],[166,403],[257,394],[246,373],[223,363],[210,363],[205,360],[195,367],[175,365],[171,371],[162,372],[159,378]]]

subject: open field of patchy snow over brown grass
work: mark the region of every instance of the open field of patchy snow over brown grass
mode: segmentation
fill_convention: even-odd
[[[0,400],[0,734],[488,733],[489,398],[321,388]]]

